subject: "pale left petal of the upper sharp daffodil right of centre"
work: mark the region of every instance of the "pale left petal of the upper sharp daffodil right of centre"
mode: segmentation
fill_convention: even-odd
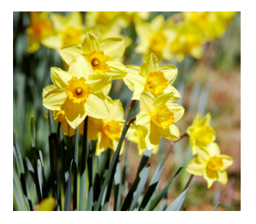
[[[144,86],[146,80],[145,80],[145,78],[143,78],[143,76],[140,76],[140,74],[139,74],[140,67],[139,66],[128,65],[128,66],[126,66],[126,71],[127,71],[127,74],[125,77],[123,77],[123,82],[126,83],[126,86],[128,86],[128,88],[130,90],[133,91],[135,83],[138,83],[141,86]]]

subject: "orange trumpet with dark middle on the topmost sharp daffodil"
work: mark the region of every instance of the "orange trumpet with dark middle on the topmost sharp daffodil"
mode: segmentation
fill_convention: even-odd
[[[107,61],[110,61],[110,57],[105,55],[103,50],[89,51],[87,58],[94,68],[94,73],[103,74],[110,70],[110,67],[107,64]]]

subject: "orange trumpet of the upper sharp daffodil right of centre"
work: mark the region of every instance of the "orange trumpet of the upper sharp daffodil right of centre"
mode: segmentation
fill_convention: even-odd
[[[146,79],[145,89],[149,90],[151,93],[159,94],[167,88],[167,85],[168,80],[164,73],[161,71],[154,71],[149,73],[149,76]]]

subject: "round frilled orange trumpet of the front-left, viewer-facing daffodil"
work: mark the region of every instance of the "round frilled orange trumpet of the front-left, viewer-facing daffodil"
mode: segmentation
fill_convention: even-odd
[[[69,85],[65,88],[65,93],[72,102],[85,103],[86,99],[90,96],[90,85],[85,82],[86,79],[83,77],[77,80],[77,77],[74,76],[67,82]]]

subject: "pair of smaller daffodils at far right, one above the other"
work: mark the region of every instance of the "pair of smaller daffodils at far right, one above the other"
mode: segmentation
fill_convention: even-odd
[[[218,181],[222,184],[228,182],[228,174],[225,171],[233,164],[231,157],[221,154],[218,144],[215,143],[216,133],[210,126],[211,115],[208,113],[200,121],[198,114],[192,125],[187,128],[192,154],[198,154],[185,168],[190,174],[203,176],[208,188]]]

